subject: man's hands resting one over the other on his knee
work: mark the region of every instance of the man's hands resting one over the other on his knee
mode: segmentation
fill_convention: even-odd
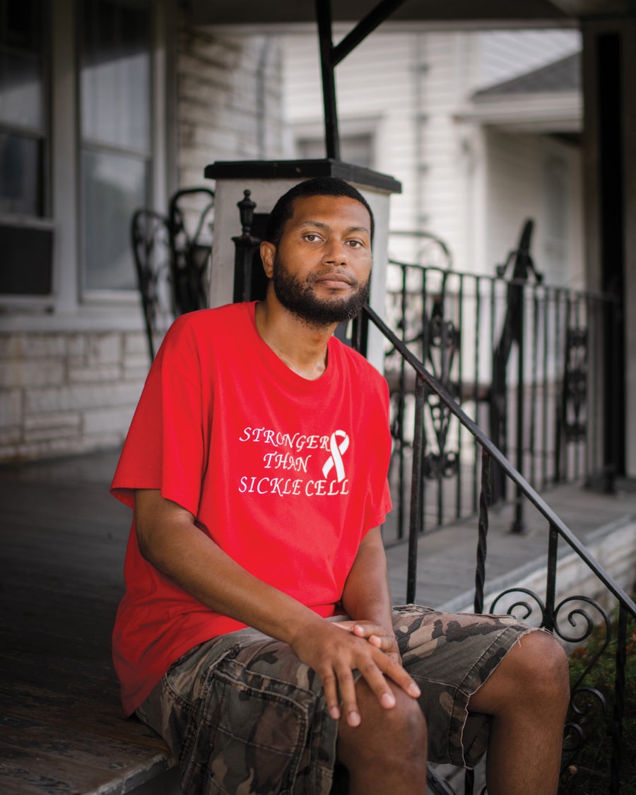
[[[393,632],[381,624],[323,619],[297,634],[292,647],[320,677],[329,714],[335,720],[346,716],[349,726],[360,723],[355,670],[386,709],[396,704],[389,681],[412,698],[420,696],[420,688],[401,665]]]

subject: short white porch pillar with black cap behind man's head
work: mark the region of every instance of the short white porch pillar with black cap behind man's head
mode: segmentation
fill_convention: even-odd
[[[243,191],[249,190],[250,199],[256,203],[252,234],[259,237],[262,235],[266,216],[270,214],[278,197],[289,188],[312,176],[338,176],[358,188],[373,211],[374,257],[369,303],[379,316],[385,316],[389,199],[391,193],[401,192],[401,184],[392,176],[329,159],[216,162],[208,165],[204,173],[208,179],[216,180],[211,306],[220,306],[234,300],[235,245],[232,238],[241,234],[237,204],[243,198]],[[367,359],[383,372],[382,336],[374,328],[369,328]]]

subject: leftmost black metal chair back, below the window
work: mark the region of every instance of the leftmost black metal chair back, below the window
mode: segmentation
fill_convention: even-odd
[[[153,210],[137,210],[130,224],[130,235],[152,361],[161,339],[176,317],[168,219]]]

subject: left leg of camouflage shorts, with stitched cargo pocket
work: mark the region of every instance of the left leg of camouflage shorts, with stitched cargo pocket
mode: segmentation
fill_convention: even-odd
[[[138,709],[168,743],[188,795],[328,793],[337,724],[287,644],[239,630],[191,650]]]

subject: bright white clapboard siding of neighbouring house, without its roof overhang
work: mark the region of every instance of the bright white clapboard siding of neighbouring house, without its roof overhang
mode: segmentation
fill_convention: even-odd
[[[340,33],[343,33],[341,31]],[[338,37],[335,37],[338,41]],[[402,183],[391,199],[392,230],[429,231],[448,243],[457,270],[494,273],[494,264],[518,235],[527,212],[525,196],[537,190],[541,145],[501,139],[504,151],[485,146],[490,133],[456,121],[457,111],[480,87],[539,68],[580,48],[572,30],[487,31],[478,33],[386,33],[376,31],[336,68],[341,134],[368,120],[375,132],[374,168]],[[322,134],[321,87],[315,35],[285,39],[285,115],[297,135]],[[490,140],[490,139],[489,139]],[[499,140],[499,139],[498,139]],[[529,149],[530,147],[530,149]],[[512,149],[511,149],[512,148]],[[289,149],[293,156],[293,148]],[[525,158],[534,158],[533,162]],[[506,180],[494,167],[510,165],[510,189],[503,212],[489,205],[490,185]],[[515,157],[522,157],[516,162]],[[574,157],[574,160],[576,160]],[[572,165],[572,201],[579,176]],[[519,181],[520,177],[529,184]],[[489,187],[487,188],[487,184]],[[497,200],[503,188],[497,188]],[[486,191],[488,191],[486,193]],[[540,199],[531,204],[541,225]],[[507,204],[506,204],[507,203]],[[492,226],[494,224],[494,227]],[[580,231],[572,223],[572,235]],[[572,252],[580,244],[572,240]],[[391,251],[414,258],[418,246],[394,236]]]

